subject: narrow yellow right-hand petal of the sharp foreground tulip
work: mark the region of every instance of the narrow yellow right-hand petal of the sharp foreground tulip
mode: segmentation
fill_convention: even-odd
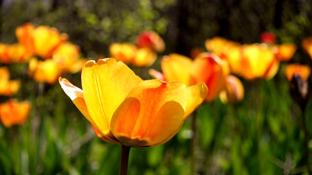
[[[203,103],[208,95],[208,88],[205,83],[200,83],[186,88],[187,105],[183,121],[192,114],[192,112]]]

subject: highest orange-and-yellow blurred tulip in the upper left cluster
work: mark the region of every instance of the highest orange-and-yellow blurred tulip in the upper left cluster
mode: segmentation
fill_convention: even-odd
[[[18,27],[16,35],[29,54],[38,55],[43,59],[51,58],[55,49],[68,39],[68,35],[59,34],[56,28],[48,26],[35,28],[31,23]]]

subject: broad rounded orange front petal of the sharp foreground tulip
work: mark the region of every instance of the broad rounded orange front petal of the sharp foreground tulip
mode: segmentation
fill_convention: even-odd
[[[160,143],[179,128],[186,105],[184,84],[144,81],[117,108],[111,121],[112,133],[126,146]]]

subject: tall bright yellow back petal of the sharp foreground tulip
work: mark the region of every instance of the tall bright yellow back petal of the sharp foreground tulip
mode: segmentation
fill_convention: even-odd
[[[114,58],[88,61],[82,68],[83,97],[94,126],[110,138],[111,118],[140,79],[123,62]]]

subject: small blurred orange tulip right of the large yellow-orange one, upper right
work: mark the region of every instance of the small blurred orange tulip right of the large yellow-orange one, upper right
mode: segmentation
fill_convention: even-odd
[[[276,45],[276,58],[279,61],[289,61],[292,59],[294,53],[297,50],[297,46],[291,43]]]

